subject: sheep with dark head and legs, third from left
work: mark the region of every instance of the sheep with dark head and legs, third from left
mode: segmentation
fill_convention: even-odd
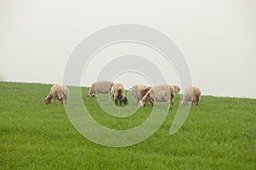
[[[125,96],[124,85],[121,83],[113,84],[110,95],[113,97],[115,105],[122,105],[123,103],[127,104],[129,101]]]

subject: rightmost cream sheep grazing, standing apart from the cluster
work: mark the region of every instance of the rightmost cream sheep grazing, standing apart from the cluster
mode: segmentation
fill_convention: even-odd
[[[191,105],[195,103],[195,105],[197,106],[200,99],[201,99],[201,90],[199,88],[196,88],[196,87],[186,88],[183,93],[182,104],[186,105],[189,101],[192,101]]]

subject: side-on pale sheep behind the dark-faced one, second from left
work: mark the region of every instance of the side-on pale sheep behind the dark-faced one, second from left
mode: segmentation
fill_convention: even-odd
[[[90,91],[87,97],[95,97],[93,94],[110,94],[110,90],[113,87],[113,84],[113,82],[108,81],[93,82],[90,85]]]

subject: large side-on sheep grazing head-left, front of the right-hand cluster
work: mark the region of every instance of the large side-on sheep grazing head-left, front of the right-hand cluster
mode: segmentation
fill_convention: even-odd
[[[172,109],[174,109],[174,98],[175,98],[175,88],[171,85],[160,85],[152,87],[148,90],[148,93],[145,94],[142,100],[139,102],[139,106],[143,107],[148,102],[156,107],[156,102],[168,101],[169,105],[167,109],[170,109],[172,104]]]

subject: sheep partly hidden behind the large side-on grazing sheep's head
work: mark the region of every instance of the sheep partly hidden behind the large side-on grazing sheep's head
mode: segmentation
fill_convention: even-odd
[[[137,100],[137,104],[139,100],[143,99],[143,96],[148,93],[150,87],[144,86],[142,84],[136,84],[131,87],[131,95],[134,99]]]

